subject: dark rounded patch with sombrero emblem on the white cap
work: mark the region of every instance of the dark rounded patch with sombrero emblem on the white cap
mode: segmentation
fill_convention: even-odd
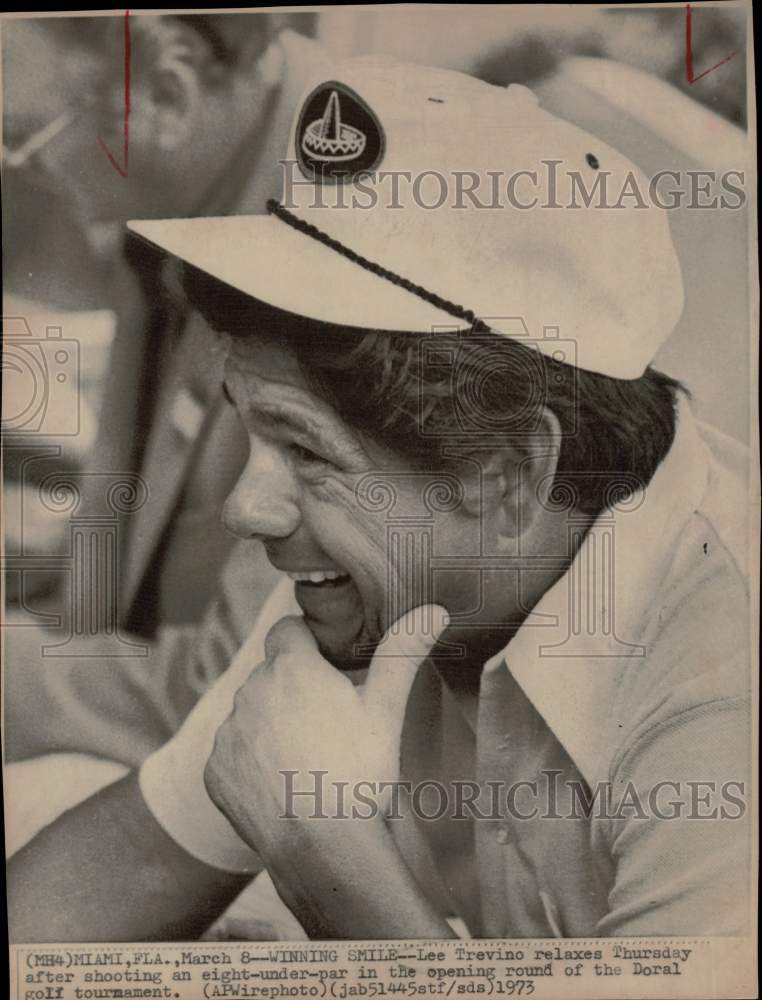
[[[296,125],[296,156],[308,180],[350,180],[374,170],[383,153],[381,124],[358,94],[334,80],[312,91]]]

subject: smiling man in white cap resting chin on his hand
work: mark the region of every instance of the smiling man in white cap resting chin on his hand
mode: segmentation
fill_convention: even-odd
[[[639,174],[524,88],[382,60],[315,81],[291,168],[269,218],[133,224],[227,339],[225,521],[284,579],[173,739],[16,856],[14,936],[188,936],[263,868],[313,937],[743,932],[743,500],[650,367],[664,213],[561,210]],[[537,205],[433,209],[466,172]]]

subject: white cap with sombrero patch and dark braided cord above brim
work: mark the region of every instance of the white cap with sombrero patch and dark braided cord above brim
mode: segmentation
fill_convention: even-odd
[[[615,378],[640,377],[682,312],[667,215],[644,200],[645,176],[525,87],[351,60],[307,90],[288,160],[287,213],[130,228],[290,313],[419,333],[473,313],[549,355],[543,331],[557,328],[576,345],[565,360]],[[613,199],[586,206],[572,173],[588,191],[605,180]],[[628,185],[641,197],[618,199]]]

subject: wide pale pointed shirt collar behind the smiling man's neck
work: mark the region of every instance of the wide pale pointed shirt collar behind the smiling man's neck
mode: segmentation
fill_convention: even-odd
[[[599,515],[568,571],[485,665],[488,682],[508,667],[589,783],[605,778],[599,770],[617,689],[646,655],[638,642],[644,620],[708,474],[708,450],[683,400],[672,447],[651,482]]]

